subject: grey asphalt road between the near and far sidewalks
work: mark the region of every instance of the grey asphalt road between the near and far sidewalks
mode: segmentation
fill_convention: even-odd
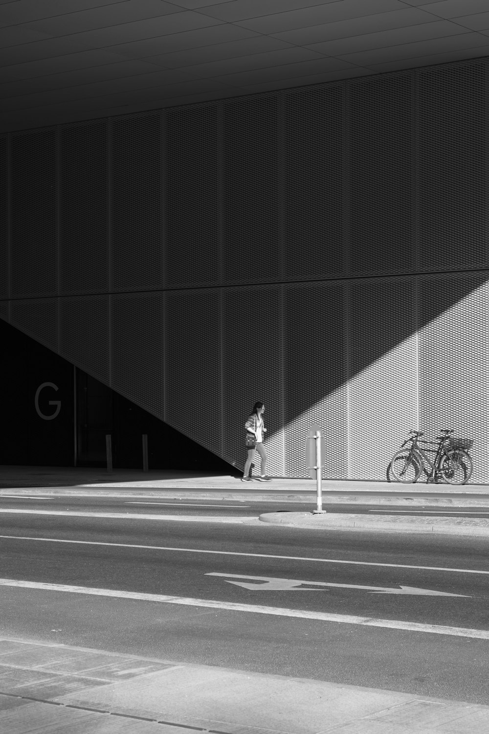
[[[277,509],[183,504],[1,498],[15,512],[0,512],[0,633],[489,702],[488,539],[123,517]]]

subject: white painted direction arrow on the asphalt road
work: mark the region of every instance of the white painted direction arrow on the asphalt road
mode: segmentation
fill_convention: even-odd
[[[327,591],[327,589],[305,589],[300,588],[302,584],[307,586],[333,586],[336,589],[361,589],[371,594],[405,594],[418,596],[456,596],[467,597],[466,594],[449,594],[448,592],[435,592],[432,589],[417,589],[416,586],[399,586],[389,589],[385,586],[357,586],[356,584],[330,584],[325,581],[298,581],[294,578],[273,578],[270,576],[243,576],[236,573],[206,573],[206,576],[222,576],[225,577],[227,584],[242,586],[244,589],[255,589],[256,591],[298,591],[298,592],[319,592]],[[248,584],[246,581],[228,581],[229,578],[247,578],[251,581],[263,581],[262,584]],[[470,597],[467,597],[470,598]]]

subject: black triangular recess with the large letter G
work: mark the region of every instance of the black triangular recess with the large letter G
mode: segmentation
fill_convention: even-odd
[[[106,467],[106,434],[115,468],[229,473],[229,465],[51,349],[0,321],[4,385],[0,464]]]

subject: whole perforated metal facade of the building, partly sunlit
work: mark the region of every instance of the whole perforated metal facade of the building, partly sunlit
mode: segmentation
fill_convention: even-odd
[[[0,317],[228,462],[489,480],[489,59],[0,139]],[[7,181],[10,185],[7,184]]]

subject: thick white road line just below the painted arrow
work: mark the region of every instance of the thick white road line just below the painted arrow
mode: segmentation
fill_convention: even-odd
[[[91,586],[68,586],[65,584],[41,584],[37,581],[17,581],[12,578],[0,578],[0,586],[15,586],[23,589],[40,591],[69,592],[116,599],[136,599],[164,604],[181,604],[183,606],[200,606],[227,611],[248,611],[253,614],[273,614],[278,617],[297,617],[300,619],[318,619],[321,622],[337,622],[347,625],[365,627],[383,627],[408,632],[425,632],[437,635],[452,635],[489,639],[489,630],[473,630],[463,627],[445,627],[443,625],[423,625],[419,622],[404,622],[398,619],[377,619],[375,617],[353,617],[349,614],[329,614],[324,611],[308,611],[305,609],[288,609],[275,606],[258,606],[255,604],[238,604],[213,599],[194,599],[192,597],[167,596],[162,594],[144,594],[140,592],[123,592],[115,589],[94,589]]]

